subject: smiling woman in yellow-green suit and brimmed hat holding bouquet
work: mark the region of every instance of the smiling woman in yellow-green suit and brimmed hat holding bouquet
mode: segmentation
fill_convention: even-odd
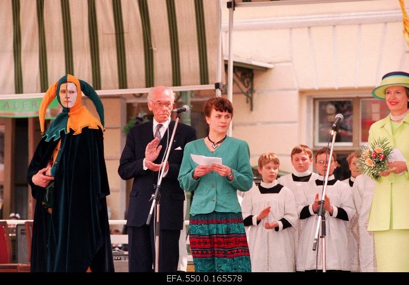
[[[380,173],[369,215],[368,231],[374,231],[378,271],[409,271],[409,74],[384,75],[372,95],[386,102],[391,113],[374,123],[369,143],[386,137],[403,159],[388,162]]]

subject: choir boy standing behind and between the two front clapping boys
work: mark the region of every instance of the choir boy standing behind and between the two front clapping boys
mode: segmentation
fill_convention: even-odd
[[[297,256],[298,242],[301,236],[301,225],[300,225],[300,212],[305,205],[305,191],[304,188],[307,186],[307,182],[310,180],[315,180],[318,174],[313,173],[309,170],[312,164],[312,150],[306,145],[298,145],[294,147],[291,151],[291,164],[294,167],[294,171],[290,174],[284,175],[277,179],[277,182],[281,185],[288,187],[294,198],[296,199],[297,206],[297,226],[296,234],[294,234],[294,246],[295,254]]]

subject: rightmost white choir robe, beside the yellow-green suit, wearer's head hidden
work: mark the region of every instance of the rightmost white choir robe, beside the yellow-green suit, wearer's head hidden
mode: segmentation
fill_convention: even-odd
[[[361,272],[376,272],[374,234],[368,231],[368,217],[375,191],[376,181],[362,174],[356,177],[352,196],[358,216],[359,266]]]

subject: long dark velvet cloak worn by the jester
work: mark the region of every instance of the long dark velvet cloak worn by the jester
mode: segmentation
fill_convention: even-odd
[[[41,205],[46,188],[32,177],[46,167],[58,140],[43,137],[30,163],[27,179],[37,200],[31,247],[32,272],[113,272],[101,129],[61,131],[55,167],[52,215]]]

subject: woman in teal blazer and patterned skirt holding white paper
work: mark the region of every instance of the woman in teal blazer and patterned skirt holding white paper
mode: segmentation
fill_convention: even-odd
[[[194,193],[190,208],[190,246],[196,272],[251,272],[250,255],[237,199],[237,190],[253,184],[247,143],[226,136],[233,117],[232,103],[212,98],[203,112],[209,125],[206,138],[185,146],[178,180]],[[220,157],[221,163],[199,165],[191,154]]]

